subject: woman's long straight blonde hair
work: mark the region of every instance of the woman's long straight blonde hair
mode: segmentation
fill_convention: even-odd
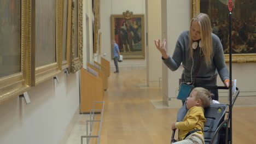
[[[212,30],[211,30],[211,21],[207,14],[199,13],[190,21],[190,31],[189,31],[189,56],[193,54],[192,48],[192,35],[191,35],[191,26],[192,22],[196,21],[199,23],[200,31],[201,31],[201,51],[205,56],[206,65],[210,65],[212,63]]]

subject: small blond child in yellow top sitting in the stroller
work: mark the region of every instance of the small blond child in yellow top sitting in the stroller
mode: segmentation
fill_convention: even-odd
[[[187,98],[187,109],[182,122],[174,122],[172,130],[179,129],[178,143],[205,143],[203,127],[206,122],[204,109],[211,105],[212,94],[205,88],[196,87]]]

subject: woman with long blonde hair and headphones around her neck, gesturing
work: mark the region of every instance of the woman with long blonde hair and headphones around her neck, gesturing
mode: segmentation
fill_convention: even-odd
[[[229,86],[229,71],[225,64],[222,43],[211,31],[207,14],[197,14],[190,22],[190,30],[179,35],[172,57],[167,55],[166,41],[155,40],[162,60],[172,71],[183,65],[182,80],[195,87],[217,86],[219,74],[226,87]],[[218,89],[208,89],[218,100]]]

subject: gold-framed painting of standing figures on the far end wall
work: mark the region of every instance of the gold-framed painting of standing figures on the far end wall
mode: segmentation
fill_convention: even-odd
[[[144,15],[133,15],[127,10],[123,15],[112,15],[112,40],[119,46],[123,58],[145,58]],[[112,58],[113,58],[113,47]]]

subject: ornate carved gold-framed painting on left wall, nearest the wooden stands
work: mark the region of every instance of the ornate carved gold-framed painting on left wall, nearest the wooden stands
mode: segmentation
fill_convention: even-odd
[[[68,70],[75,73],[83,68],[83,0],[69,2],[72,7],[71,11],[68,11],[68,15],[71,15],[71,31],[67,33],[71,35],[71,67]]]

